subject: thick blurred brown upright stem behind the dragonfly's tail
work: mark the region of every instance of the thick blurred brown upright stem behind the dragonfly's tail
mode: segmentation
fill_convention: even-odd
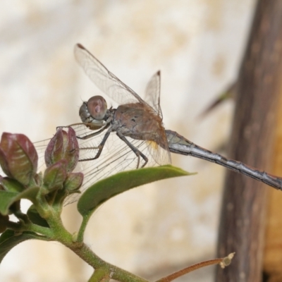
[[[238,76],[230,157],[267,169],[282,70],[282,1],[259,0]],[[261,281],[267,188],[226,173],[219,228],[218,255],[231,251],[231,267],[218,269],[216,282]]]

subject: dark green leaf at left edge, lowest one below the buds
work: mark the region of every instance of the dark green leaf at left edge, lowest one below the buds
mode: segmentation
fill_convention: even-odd
[[[8,229],[2,233],[0,236],[0,263],[13,247],[30,239],[47,240],[47,238],[44,238],[42,235],[37,235],[37,233],[30,231],[25,231],[18,235],[15,231]]]

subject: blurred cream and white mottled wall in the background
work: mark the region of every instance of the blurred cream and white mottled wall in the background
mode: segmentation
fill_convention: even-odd
[[[38,141],[58,125],[80,122],[82,101],[101,94],[75,62],[80,42],[141,97],[161,70],[165,127],[225,154],[232,101],[199,116],[236,80],[254,6],[255,0],[2,1],[0,130]],[[85,236],[97,255],[148,279],[215,257],[225,169],[172,158],[198,174],[115,197],[92,216]],[[75,204],[63,218],[75,232]],[[66,247],[29,241],[4,258],[0,281],[87,281],[91,273]],[[213,277],[208,267],[181,281]]]

